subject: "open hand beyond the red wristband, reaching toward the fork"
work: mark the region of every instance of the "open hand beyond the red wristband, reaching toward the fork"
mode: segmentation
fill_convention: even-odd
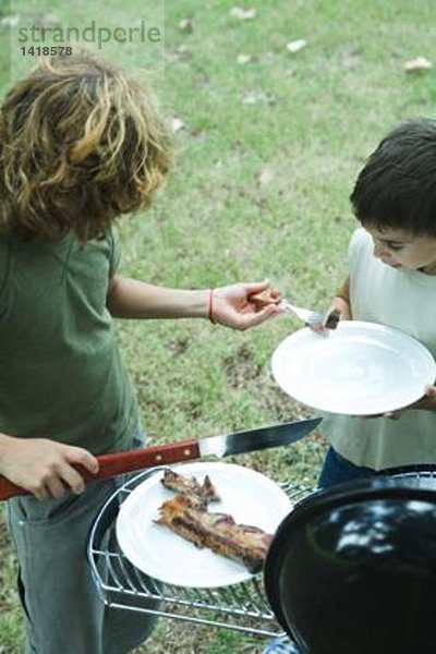
[[[258,298],[256,298],[256,295],[269,289],[268,280],[234,283],[215,289],[214,322],[240,330],[261,325],[261,323],[280,313],[274,296],[270,302],[258,301]]]

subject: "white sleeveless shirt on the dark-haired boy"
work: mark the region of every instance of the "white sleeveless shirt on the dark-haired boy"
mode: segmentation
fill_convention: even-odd
[[[436,358],[436,276],[390,268],[373,250],[371,235],[358,229],[349,249],[353,319],[398,327]],[[436,463],[436,413],[431,411],[407,411],[400,420],[327,414],[322,426],[336,451],[356,465]]]

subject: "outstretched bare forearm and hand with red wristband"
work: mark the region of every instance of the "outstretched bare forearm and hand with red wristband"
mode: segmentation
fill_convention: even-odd
[[[251,296],[269,288],[269,281],[235,283],[207,290],[179,290],[157,287],[144,281],[113,277],[107,305],[118,318],[203,318],[246,329],[280,313],[271,303],[259,307]]]

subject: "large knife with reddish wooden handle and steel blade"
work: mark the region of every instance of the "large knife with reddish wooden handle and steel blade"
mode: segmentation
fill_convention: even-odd
[[[296,422],[282,423],[268,427],[258,427],[221,436],[209,436],[199,440],[182,440],[170,445],[156,445],[126,452],[116,452],[97,457],[99,464],[96,474],[84,468],[78,471],[85,482],[102,480],[126,472],[134,472],[143,468],[156,465],[168,465],[201,459],[202,457],[215,456],[218,458],[230,455],[242,455],[256,450],[281,447],[296,443],[306,434],[312,432],[319,423],[320,417],[300,420]],[[7,477],[0,476],[0,500],[9,499],[16,495],[28,493],[13,484]]]

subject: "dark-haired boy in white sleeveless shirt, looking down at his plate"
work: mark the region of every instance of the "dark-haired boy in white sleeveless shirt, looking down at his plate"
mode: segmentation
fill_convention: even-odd
[[[390,132],[359,174],[351,203],[363,229],[351,239],[349,277],[332,306],[342,319],[402,329],[435,356],[436,120],[408,121]],[[323,431],[331,447],[320,486],[436,463],[436,388],[374,419],[330,414]]]

